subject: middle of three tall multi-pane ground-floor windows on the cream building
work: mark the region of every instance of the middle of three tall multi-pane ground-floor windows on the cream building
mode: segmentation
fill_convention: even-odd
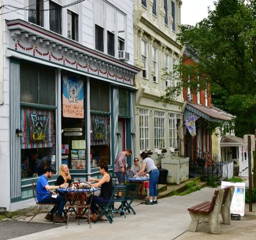
[[[154,132],[155,132],[155,148],[165,147],[165,131],[164,131],[164,111],[155,111],[154,116]]]

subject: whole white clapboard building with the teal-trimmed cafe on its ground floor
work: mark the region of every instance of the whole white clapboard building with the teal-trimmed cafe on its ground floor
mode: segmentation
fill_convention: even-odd
[[[129,0],[0,1],[0,211],[32,204],[45,166],[86,180],[134,150],[132,11]]]

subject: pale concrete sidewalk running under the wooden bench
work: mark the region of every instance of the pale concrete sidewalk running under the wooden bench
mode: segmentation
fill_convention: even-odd
[[[16,237],[15,239],[153,240],[157,238],[161,240],[200,240],[207,238],[208,240],[254,240],[256,236],[256,205],[253,205],[253,212],[249,212],[249,206],[246,204],[246,214],[241,217],[240,221],[233,220],[231,225],[221,224],[221,234],[211,234],[208,223],[200,223],[198,232],[187,231],[191,221],[187,211],[188,207],[205,200],[211,200],[215,189],[203,188],[185,196],[162,198],[158,200],[159,203],[157,205],[144,205],[140,204],[140,200],[134,200],[133,207],[136,215],[127,214],[126,218],[124,218],[124,216],[116,214],[112,224],[108,221],[92,223],[92,228],[90,229],[85,220],[81,220],[81,224],[77,225],[77,220],[71,218],[68,228],[66,228],[66,225],[60,225],[58,228]],[[52,224],[45,220],[44,216],[45,214],[39,214],[32,221]],[[29,218],[22,218],[20,221],[28,220]]]

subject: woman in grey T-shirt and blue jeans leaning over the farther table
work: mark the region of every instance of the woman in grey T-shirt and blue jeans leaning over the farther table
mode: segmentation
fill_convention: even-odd
[[[140,176],[141,173],[143,173],[145,170],[149,173],[149,195],[150,200],[148,202],[145,202],[146,205],[153,205],[157,204],[157,181],[159,178],[159,170],[157,169],[156,164],[154,163],[154,160],[148,157],[148,154],[146,152],[141,152],[140,154],[141,159],[143,159],[142,162],[142,168],[140,172],[138,172],[136,176]]]

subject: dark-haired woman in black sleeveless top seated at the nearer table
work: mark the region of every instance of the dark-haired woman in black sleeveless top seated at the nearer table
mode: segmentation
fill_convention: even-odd
[[[90,221],[94,221],[97,218],[97,213],[100,214],[99,207],[97,206],[97,202],[102,204],[108,204],[109,199],[112,194],[112,178],[108,173],[108,165],[101,163],[99,164],[99,172],[103,175],[102,179],[93,179],[92,177],[89,179],[90,181],[95,181],[96,183],[92,184],[95,188],[100,188],[100,195],[93,196],[90,210],[92,212],[92,218]],[[102,220],[102,218],[100,218]]]

